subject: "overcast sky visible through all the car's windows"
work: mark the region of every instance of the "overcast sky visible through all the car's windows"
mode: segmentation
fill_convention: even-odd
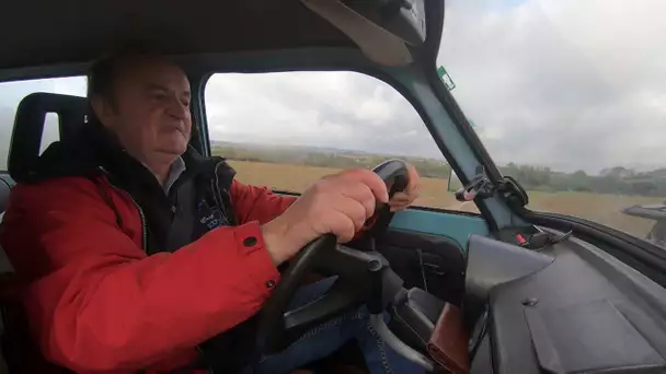
[[[664,0],[447,0],[438,63],[500,164],[666,167],[663,14]],[[30,92],[84,86],[0,83],[0,118]],[[214,140],[439,154],[411,105],[358,73],[216,75],[206,105]]]

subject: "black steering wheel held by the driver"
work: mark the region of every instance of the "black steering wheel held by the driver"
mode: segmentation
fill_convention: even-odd
[[[389,197],[407,185],[404,161],[389,160],[376,166],[374,172],[386,183]],[[390,221],[392,213],[388,204],[381,204],[374,217],[372,229],[382,230],[388,222],[380,220]],[[384,226],[376,229],[377,224]],[[287,311],[294,293],[311,272],[337,276],[337,279],[317,301]],[[259,347],[264,353],[280,352],[310,328],[364,303],[371,314],[380,314],[402,290],[402,279],[380,254],[337,245],[333,234],[320,236],[299,252],[264,304],[259,320]]]

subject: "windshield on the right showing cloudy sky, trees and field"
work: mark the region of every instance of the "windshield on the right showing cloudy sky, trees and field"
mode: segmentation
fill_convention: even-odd
[[[664,245],[666,1],[446,3],[438,63],[528,208]]]

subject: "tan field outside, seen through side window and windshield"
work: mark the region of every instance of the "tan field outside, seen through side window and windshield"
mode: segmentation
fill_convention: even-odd
[[[273,189],[300,192],[313,180],[338,170],[294,164],[229,161],[237,170],[238,178],[246,184],[268,186]],[[476,211],[470,202],[461,203],[447,192],[447,180],[423,178],[421,198],[417,206],[444,208],[450,210]],[[590,192],[543,192],[530,191],[528,208],[571,214],[599,222],[622,230],[639,237],[644,237],[654,221],[625,215],[621,210],[638,203],[663,202],[664,198],[601,195]]]

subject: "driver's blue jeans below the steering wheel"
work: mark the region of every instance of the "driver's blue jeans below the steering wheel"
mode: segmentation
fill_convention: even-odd
[[[290,309],[306,305],[321,296],[335,281],[328,278],[302,287],[294,296]],[[306,364],[323,359],[351,339],[363,350],[370,374],[421,374],[420,365],[404,359],[384,344],[370,326],[366,307],[335,317],[306,332],[286,350],[264,355],[243,374],[287,374]]]

